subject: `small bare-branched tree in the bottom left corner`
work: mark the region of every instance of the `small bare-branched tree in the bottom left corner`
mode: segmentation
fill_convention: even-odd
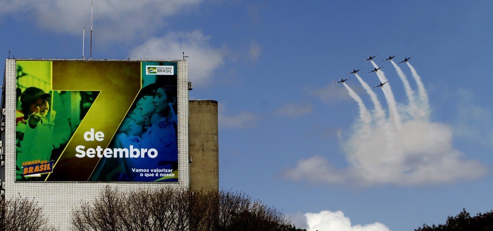
[[[28,198],[0,199],[0,231],[56,230],[37,202]]]

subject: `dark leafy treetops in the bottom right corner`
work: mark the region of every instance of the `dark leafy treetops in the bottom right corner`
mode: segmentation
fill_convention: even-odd
[[[449,216],[445,225],[423,224],[415,231],[493,231],[493,210],[471,217],[464,208],[457,216]]]

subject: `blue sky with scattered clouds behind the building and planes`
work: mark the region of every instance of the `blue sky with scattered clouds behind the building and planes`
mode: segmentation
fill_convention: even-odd
[[[462,208],[493,209],[492,9],[488,1],[95,0],[92,57],[189,56],[190,99],[219,102],[221,188],[282,209],[298,227],[413,230]],[[89,57],[90,0],[5,0],[0,52],[81,58],[84,27]],[[363,68],[359,77],[377,85],[363,62],[375,54],[395,101],[371,88],[381,121],[346,74]],[[410,107],[382,61],[394,54],[413,55],[427,102]],[[419,98],[410,67],[398,66]],[[346,77],[367,124],[334,84]]]

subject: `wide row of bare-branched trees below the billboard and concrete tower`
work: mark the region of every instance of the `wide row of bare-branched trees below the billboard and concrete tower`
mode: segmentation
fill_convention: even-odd
[[[230,191],[121,192],[106,187],[71,217],[77,231],[302,231],[279,210]]]

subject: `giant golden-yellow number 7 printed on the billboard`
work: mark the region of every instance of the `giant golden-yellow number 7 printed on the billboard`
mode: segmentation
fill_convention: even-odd
[[[100,93],[45,181],[88,181],[100,158],[75,157],[75,148],[108,146],[141,89],[141,62],[53,61],[51,68],[53,90]],[[104,139],[85,140],[91,128],[103,132]]]

